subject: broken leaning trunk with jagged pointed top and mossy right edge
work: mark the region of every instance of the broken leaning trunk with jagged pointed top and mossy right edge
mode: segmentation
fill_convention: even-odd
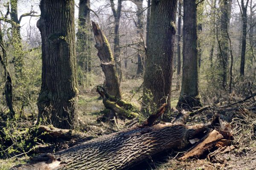
[[[119,88],[119,78],[117,76],[113,54],[105,34],[99,28],[98,24],[92,21],[93,34],[96,40],[95,47],[98,49],[98,57],[101,61],[102,71],[105,74],[104,88],[112,96],[121,99]]]

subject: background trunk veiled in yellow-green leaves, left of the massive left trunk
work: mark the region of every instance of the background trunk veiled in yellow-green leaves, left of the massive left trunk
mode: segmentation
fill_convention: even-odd
[[[18,19],[17,0],[11,0],[11,20],[12,20],[12,44],[14,47],[14,68],[15,78],[18,83],[22,79],[22,71],[24,66],[24,53],[22,49],[22,40],[20,36],[20,22]]]

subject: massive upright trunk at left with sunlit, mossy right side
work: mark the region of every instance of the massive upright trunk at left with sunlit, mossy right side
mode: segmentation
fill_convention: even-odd
[[[37,22],[43,60],[38,122],[62,129],[74,128],[77,120],[74,5],[74,0],[41,0]]]

